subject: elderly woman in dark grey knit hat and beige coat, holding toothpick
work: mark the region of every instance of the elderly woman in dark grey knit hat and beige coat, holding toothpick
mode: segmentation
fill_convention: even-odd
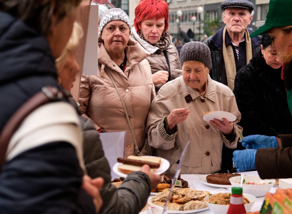
[[[212,63],[208,46],[201,42],[185,44],[180,63],[183,75],[162,86],[151,104],[147,120],[149,144],[157,148],[158,156],[171,163],[168,173],[174,173],[190,140],[180,173],[216,173],[221,167],[223,144],[228,148],[237,146],[237,130],[241,127],[236,123],[241,114],[232,91],[209,76]],[[211,111],[231,112],[236,120],[204,121],[205,112]]]

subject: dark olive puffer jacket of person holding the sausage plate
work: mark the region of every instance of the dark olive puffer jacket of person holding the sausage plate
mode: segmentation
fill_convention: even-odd
[[[102,177],[103,205],[100,213],[139,213],[150,194],[150,180],[145,173],[133,172],[117,189],[111,184],[110,167],[104,156],[99,134],[91,119],[80,116],[84,136],[84,162],[91,178]]]

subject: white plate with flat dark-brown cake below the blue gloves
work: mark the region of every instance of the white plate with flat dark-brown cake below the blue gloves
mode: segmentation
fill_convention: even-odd
[[[218,173],[204,175],[199,178],[199,180],[208,186],[211,187],[221,187],[221,188],[231,188],[232,185],[229,181],[229,178],[240,176],[238,173]]]

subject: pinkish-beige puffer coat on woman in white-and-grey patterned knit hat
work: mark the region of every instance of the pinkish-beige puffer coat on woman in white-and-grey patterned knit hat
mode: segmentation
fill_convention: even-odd
[[[82,75],[80,109],[101,128],[103,132],[126,131],[124,156],[136,155],[134,141],[125,111],[112,81],[105,72],[111,72],[124,99],[139,149],[145,139],[145,124],[151,101],[155,97],[149,62],[149,53],[132,38],[126,46],[125,72],[111,60],[102,39],[98,43],[98,74]]]

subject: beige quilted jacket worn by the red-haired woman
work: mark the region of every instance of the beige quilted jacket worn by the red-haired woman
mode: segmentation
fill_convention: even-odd
[[[155,47],[151,45],[149,42],[141,39],[141,37],[137,34],[135,28],[132,28],[132,38],[139,42],[140,45],[142,45],[143,48],[145,48],[146,51],[148,51],[151,55],[148,56],[146,59],[148,60],[151,72],[152,74],[156,73],[157,71],[168,71],[168,65],[166,62],[166,58],[164,56],[163,51],[160,51],[160,53],[157,53],[156,51],[159,50],[158,47]],[[169,65],[171,69],[180,69],[180,58],[178,55],[178,51],[176,50],[173,43],[168,46],[167,49],[167,56],[169,60]],[[171,72],[171,80],[177,78],[181,74],[176,72]],[[158,90],[163,86],[163,84],[159,84],[155,86],[156,93]]]

